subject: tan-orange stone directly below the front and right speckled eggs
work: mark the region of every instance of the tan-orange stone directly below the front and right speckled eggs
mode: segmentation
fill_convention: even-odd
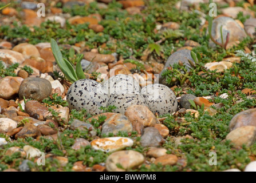
[[[151,110],[149,110],[147,106],[143,105],[129,106],[124,115],[132,123],[133,130],[136,130],[138,134],[141,134],[144,127],[160,123]]]

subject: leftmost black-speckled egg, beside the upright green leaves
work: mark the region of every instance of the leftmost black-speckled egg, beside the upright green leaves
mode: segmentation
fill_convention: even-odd
[[[70,109],[86,109],[90,114],[100,114],[101,106],[107,106],[109,100],[107,91],[92,79],[80,79],[74,82],[66,94]]]

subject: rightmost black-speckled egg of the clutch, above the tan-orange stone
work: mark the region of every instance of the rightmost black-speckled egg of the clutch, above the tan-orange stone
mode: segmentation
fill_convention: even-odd
[[[162,115],[175,112],[178,108],[178,101],[174,92],[166,85],[147,85],[141,89],[141,94],[153,113]]]

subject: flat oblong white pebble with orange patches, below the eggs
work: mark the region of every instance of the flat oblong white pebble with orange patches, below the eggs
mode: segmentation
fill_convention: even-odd
[[[95,150],[109,153],[131,147],[133,145],[133,140],[125,137],[98,138],[90,142],[90,145],[92,145],[92,148]]]

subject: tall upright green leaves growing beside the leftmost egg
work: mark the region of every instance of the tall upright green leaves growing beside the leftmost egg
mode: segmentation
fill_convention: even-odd
[[[51,39],[50,44],[52,46],[54,58],[56,59],[56,62],[60,67],[62,73],[64,73],[65,77],[72,83],[76,82],[78,79],[85,79],[84,71],[82,70],[81,66],[81,60],[84,55],[80,54],[78,56],[78,58],[76,59],[76,70],[74,70],[73,65],[67,59],[62,58],[62,54],[57,45],[57,42],[54,39]]]

